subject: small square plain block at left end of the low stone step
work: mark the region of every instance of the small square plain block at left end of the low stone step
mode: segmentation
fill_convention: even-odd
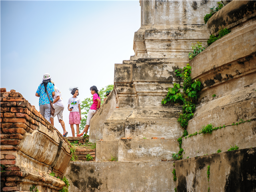
[[[118,160],[118,141],[97,141],[96,161],[108,161],[112,157]]]

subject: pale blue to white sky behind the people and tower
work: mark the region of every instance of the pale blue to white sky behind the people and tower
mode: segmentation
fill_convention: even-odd
[[[113,84],[114,64],[129,60],[134,32],[140,28],[139,0],[0,1],[0,87],[20,92],[39,110],[35,96],[44,73],[50,73],[66,106],[68,88],[81,100],[90,87]],[[55,127],[62,133],[57,118]]]

